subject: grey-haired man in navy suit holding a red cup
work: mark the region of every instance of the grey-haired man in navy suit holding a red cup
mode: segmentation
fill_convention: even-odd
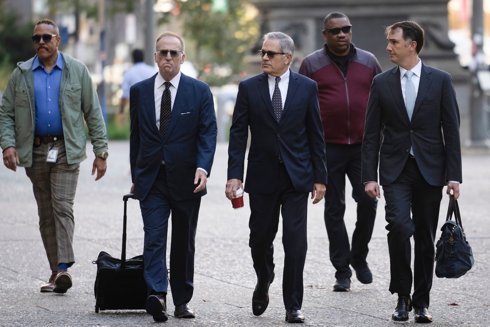
[[[325,195],[327,169],[317,83],[293,73],[289,66],[294,42],[286,34],[264,35],[263,74],[239,85],[228,147],[226,197],[232,199],[244,180],[250,127],[245,192],[250,199],[250,240],[257,284],[252,311],[261,315],[269,304],[274,280],[273,245],[282,214],[286,321],[304,323],[303,268],[306,257],[306,208]]]

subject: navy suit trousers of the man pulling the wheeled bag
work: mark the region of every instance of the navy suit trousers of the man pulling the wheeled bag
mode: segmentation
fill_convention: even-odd
[[[175,305],[191,301],[194,293],[194,253],[201,198],[172,199],[165,165],[160,168],[148,195],[140,201],[145,230],[143,259],[148,294],[167,294],[167,230],[172,212],[170,287]]]

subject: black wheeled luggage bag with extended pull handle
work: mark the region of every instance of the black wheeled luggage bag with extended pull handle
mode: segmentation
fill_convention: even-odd
[[[123,251],[121,259],[100,252],[94,285],[95,312],[98,310],[145,309],[147,284],[143,278],[143,255],[126,259],[126,204],[133,194],[123,196]]]

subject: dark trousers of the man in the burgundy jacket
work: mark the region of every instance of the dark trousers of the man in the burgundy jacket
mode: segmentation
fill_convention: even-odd
[[[378,201],[364,191],[361,183],[361,144],[325,143],[327,156],[327,188],[324,219],[330,247],[330,261],[335,278],[352,276],[351,260],[362,263],[368,256]],[[345,175],[352,185],[352,198],[357,202],[357,221],[352,234],[352,248],[343,220],[345,213]]]

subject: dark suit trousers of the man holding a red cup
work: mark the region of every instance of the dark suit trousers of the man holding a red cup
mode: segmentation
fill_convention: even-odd
[[[249,194],[250,241],[253,268],[259,284],[270,281],[274,271],[274,241],[282,214],[284,246],[283,299],[286,309],[301,309],[303,268],[306,259],[306,210],[308,193],[296,192],[284,164],[279,164],[279,183],[271,194]]]

